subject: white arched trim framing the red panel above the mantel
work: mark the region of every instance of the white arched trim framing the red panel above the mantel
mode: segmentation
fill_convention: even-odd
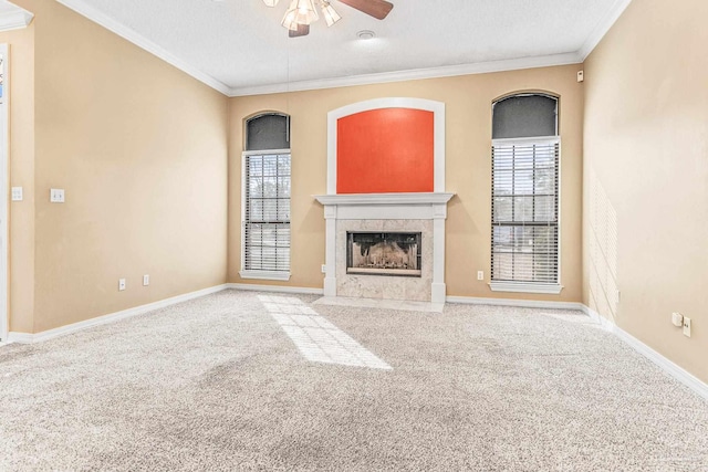
[[[433,112],[433,191],[445,191],[445,103],[424,98],[374,98],[336,108],[327,113],[327,195],[336,195],[337,120],[345,116],[382,108],[413,108]]]

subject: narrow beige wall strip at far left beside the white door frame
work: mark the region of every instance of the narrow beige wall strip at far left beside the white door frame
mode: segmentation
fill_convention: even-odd
[[[9,45],[9,174],[24,200],[9,204],[10,331],[31,333],[34,314],[34,24],[0,33]],[[9,303],[9,305],[10,305]]]

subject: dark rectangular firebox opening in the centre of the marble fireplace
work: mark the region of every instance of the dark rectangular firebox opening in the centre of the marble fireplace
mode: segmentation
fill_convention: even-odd
[[[347,232],[346,273],[419,277],[420,237],[419,232]]]

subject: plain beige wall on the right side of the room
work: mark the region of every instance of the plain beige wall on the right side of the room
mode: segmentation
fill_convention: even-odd
[[[634,1],[585,63],[583,274],[586,304],[704,381],[706,18],[704,0]]]

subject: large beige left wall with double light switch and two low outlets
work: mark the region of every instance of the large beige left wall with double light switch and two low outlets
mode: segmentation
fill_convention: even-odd
[[[18,294],[31,282],[13,274],[12,329],[223,283],[228,99],[58,2],[17,3],[35,14],[35,141],[33,195],[25,188],[12,209],[34,206],[35,258],[13,244],[13,268],[34,266],[34,301],[28,324]],[[66,202],[50,203],[50,188],[65,189]]]

